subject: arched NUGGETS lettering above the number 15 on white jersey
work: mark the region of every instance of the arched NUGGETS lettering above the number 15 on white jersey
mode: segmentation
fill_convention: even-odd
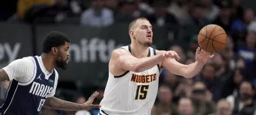
[[[150,75],[132,74],[131,81],[135,83],[150,83],[150,82],[156,81],[156,74],[150,74]]]

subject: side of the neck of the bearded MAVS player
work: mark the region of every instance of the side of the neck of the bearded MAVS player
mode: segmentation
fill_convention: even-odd
[[[42,57],[42,62],[44,64],[44,67],[47,71],[51,72],[52,69],[54,69],[55,67],[55,62],[54,62],[54,58],[52,58],[50,55],[42,53],[41,55]]]

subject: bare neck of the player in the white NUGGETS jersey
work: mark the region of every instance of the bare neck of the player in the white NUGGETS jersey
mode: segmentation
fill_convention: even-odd
[[[131,53],[136,58],[148,57],[148,46],[131,43]]]

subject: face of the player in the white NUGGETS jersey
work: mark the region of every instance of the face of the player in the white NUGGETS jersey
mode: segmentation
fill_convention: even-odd
[[[147,46],[152,45],[152,25],[147,20],[138,20],[136,22],[136,28],[134,30],[136,41]]]

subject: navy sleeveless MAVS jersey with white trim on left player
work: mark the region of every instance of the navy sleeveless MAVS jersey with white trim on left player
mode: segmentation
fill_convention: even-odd
[[[38,64],[38,58],[32,58],[35,64],[33,78],[28,83],[12,79],[4,104],[0,107],[1,115],[38,115],[45,99],[53,90],[54,83],[57,82],[56,70],[51,72],[49,79],[44,79],[45,74]]]

